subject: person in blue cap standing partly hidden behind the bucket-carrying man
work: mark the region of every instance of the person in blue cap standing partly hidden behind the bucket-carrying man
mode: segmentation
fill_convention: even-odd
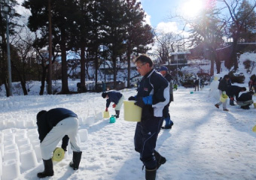
[[[160,74],[169,82],[169,104],[173,101],[173,90],[172,90],[172,76],[168,73],[168,68],[166,66],[162,66],[159,70]],[[164,121],[166,121],[166,125],[162,127],[162,129],[171,129],[173,125],[173,121],[169,115],[169,104],[167,104],[163,109],[163,117]]]

